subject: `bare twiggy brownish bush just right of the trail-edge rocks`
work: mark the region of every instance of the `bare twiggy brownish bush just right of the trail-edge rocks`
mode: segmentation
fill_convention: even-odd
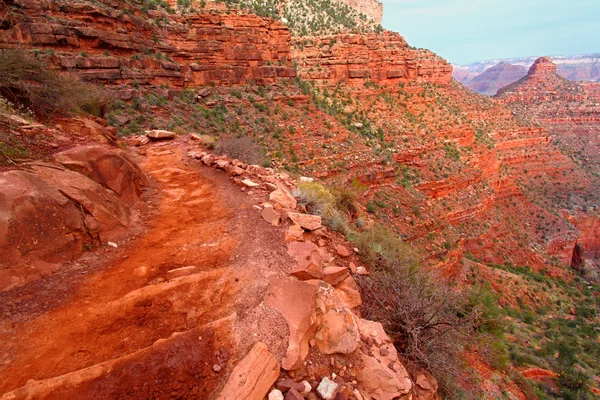
[[[358,233],[354,243],[375,267],[357,279],[363,316],[381,322],[400,353],[431,371],[447,394],[471,381],[464,355],[481,350],[484,307],[420,268],[415,251],[382,225]]]

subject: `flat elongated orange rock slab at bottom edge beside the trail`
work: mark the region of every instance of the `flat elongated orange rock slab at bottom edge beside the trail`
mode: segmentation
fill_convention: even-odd
[[[217,400],[263,399],[279,376],[279,363],[264,343],[256,343],[235,366]]]

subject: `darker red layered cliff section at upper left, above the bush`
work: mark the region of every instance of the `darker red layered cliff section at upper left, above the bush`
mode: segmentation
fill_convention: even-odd
[[[217,12],[146,16],[113,0],[11,3],[0,44],[42,50],[49,63],[84,79],[198,86],[296,75],[287,27],[266,18]]]

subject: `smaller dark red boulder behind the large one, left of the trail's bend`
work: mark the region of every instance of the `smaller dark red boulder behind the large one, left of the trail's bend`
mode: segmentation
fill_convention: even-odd
[[[60,152],[55,158],[68,169],[117,193],[129,205],[140,200],[142,186],[147,181],[140,167],[122,150],[81,146]]]

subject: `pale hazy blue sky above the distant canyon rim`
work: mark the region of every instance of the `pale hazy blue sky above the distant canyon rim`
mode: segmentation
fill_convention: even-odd
[[[600,0],[380,0],[383,26],[452,63],[600,53]]]

